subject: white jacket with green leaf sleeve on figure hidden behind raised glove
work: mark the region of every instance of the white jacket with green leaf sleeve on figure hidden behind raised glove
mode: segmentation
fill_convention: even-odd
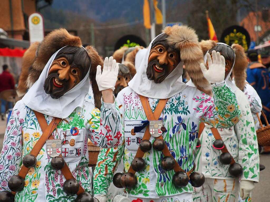
[[[234,127],[220,128],[218,132],[235,162],[243,168],[240,179],[258,182],[259,152],[253,117],[245,94],[237,88],[235,95],[241,110],[240,121]],[[234,110],[234,107],[230,109],[230,111]],[[196,169],[205,177],[235,179],[228,172],[230,165],[223,165],[219,161],[222,152],[212,147],[215,138],[211,126],[205,126],[199,139],[201,147],[196,149],[195,153]]]

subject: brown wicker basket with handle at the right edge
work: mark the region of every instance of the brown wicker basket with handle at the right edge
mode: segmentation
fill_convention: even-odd
[[[266,118],[263,111],[262,111],[262,116],[265,119],[266,126],[262,125],[259,114],[257,113],[257,117],[258,117],[258,120],[259,120],[260,126],[261,126],[261,128],[256,131],[257,132],[258,145],[260,145],[260,146],[270,146],[270,125],[269,125],[269,123],[267,121],[267,118]]]

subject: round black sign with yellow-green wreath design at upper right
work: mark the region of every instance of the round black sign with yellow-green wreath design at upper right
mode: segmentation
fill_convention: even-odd
[[[237,43],[243,46],[245,51],[247,51],[250,45],[250,36],[248,31],[244,27],[233,25],[226,28],[222,32],[220,42],[226,43],[230,46],[233,43]]]

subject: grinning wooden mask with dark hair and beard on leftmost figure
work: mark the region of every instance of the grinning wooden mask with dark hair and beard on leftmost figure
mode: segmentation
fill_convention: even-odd
[[[44,83],[44,90],[58,99],[74,88],[86,76],[91,65],[82,47],[66,46],[56,55]]]

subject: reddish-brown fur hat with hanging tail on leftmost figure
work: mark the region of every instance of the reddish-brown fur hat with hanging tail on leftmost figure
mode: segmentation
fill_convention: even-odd
[[[82,41],[80,37],[69,34],[68,31],[63,28],[53,30],[44,37],[43,41],[38,47],[37,56],[33,63],[33,66],[29,70],[29,76],[27,78],[28,88],[30,88],[35,83],[35,81],[38,80],[43,68],[47,64],[50,57],[57,50],[64,46],[82,47]],[[96,82],[96,67],[97,65],[101,65],[103,67],[103,61],[93,46],[87,46],[86,50],[91,60],[89,78],[94,93],[95,106],[97,108],[100,108],[101,92],[99,91]]]

